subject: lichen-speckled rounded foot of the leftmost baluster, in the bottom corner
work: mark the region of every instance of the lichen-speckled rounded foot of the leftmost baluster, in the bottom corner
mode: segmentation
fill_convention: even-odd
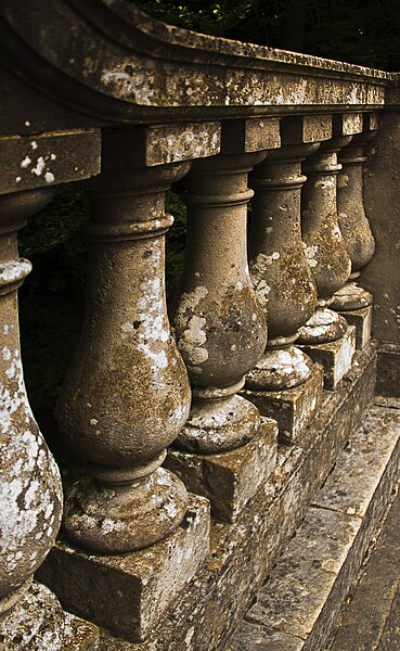
[[[2,651],[62,651],[64,649],[65,613],[54,595],[33,583],[20,600],[0,616]]]

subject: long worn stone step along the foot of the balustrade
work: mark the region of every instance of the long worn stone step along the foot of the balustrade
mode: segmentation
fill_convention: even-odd
[[[323,651],[400,475],[399,404],[377,399],[225,651]],[[341,651],[341,647],[340,647]]]

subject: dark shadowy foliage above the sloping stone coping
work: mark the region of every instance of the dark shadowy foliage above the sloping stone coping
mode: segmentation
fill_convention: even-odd
[[[400,69],[397,0],[139,0],[167,23],[243,41]]]

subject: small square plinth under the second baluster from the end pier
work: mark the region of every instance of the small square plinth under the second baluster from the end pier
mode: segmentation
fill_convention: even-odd
[[[349,326],[347,332],[336,342],[299,346],[314,362],[324,369],[324,387],[333,390],[349,372],[356,353],[356,327]]]

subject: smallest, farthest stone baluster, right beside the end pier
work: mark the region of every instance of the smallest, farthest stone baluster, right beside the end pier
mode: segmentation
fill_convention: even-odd
[[[358,310],[372,304],[372,294],[357,284],[361,270],[369,264],[375,251],[375,240],[365,215],[363,201],[363,164],[365,145],[377,130],[375,114],[363,116],[364,130],[353,136],[339,155],[341,170],[337,182],[337,209],[339,226],[351,258],[349,282],[335,293],[332,307],[339,311]]]

